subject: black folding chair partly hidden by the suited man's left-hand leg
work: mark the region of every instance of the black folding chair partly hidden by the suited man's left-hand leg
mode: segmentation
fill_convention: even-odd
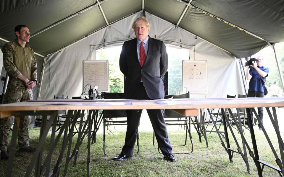
[[[102,93],[102,97],[104,99],[123,99],[124,94],[123,93],[109,93],[104,92]],[[104,154],[105,155],[117,155],[117,154],[107,154],[106,153],[106,129],[109,130],[110,126],[115,125],[127,125],[127,120],[113,120],[113,118],[117,117],[127,117],[125,110],[103,110],[103,120],[104,120]],[[138,130],[137,130],[138,131]],[[139,152],[139,132],[137,136],[137,153]],[[124,142],[124,141],[123,141]],[[122,147],[111,147],[111,148],[122,148]]]

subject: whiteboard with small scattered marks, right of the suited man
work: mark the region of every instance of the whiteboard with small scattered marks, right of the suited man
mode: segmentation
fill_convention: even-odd
[[[208,94],[206,60],[183,60],[183,92]]]

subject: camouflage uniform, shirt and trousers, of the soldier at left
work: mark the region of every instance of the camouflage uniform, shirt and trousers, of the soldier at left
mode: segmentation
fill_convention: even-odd
[[[29,80],[37,80],[35,54],[26,43],[23,48],[17,39],[14,42],[6,43],[3,48],[3,63],[9,76],[4,104],[17,103],[33,99],[32,89],[28,89],[25,83],[17,78],[24,75]],[[9,129],[14,123],[14,116],[0,119],[0,150],[7,150],[9,143]],[[29,146],[28,125],[30,116],[21,117],[18,132],[19,148]]]

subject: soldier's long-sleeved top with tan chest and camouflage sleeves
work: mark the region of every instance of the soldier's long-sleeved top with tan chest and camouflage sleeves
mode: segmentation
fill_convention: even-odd
[[[4,67],[9,77],[24,75],[29,80],[37,80],[35,53],[28,43],[23,48],[16,39],[6,43],[2,52]]]

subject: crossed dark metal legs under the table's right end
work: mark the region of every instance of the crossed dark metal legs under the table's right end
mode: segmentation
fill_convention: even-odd
[[[207,112],[209,113],[210,119],[212,119],[213,128],[215,128],[215,130],[216,130],[214,132],[216,132],[217,135],[219,136],[220,141],[221,141],[221,145],[224,147],[225,151],[228,153],[230,162],[231,163],[233,162],[233,154],[234,153],[240,154],[241,157],[243,158],[243,161],[246,164],[247,172],[250,174],[250,168],[249,168],[249,163],[248,163],[248,156],[247,156],[247,151],[246,151],[246,148],[247,148],[248,151],[249,151],[249,155],[254,160],[254,163],[256,165],[256,168],[257,168],[259,176],[262,176],[262,171],[263,171],[265,166],[276,170],[278,172],[279,176],[281,176],[281,177],[284,176],[284,168],[283,168],[283,164],[282,164],[282,162],[284,161],[284,151],[283,151],[284,144],[283,144],[283,139],[282,139],[282,137],[280,135],[280,131],[279,131],[279,124],[278,124],[278,119],[277,119],[277,114],[276,114],[275,107],[272,107],[273,115],[271,114],[269,107],[266,107],[265,109],[266,109],[266,111],[267,111],[267,113],[269,115],[269,118],[270,118],[270,120],[272,122],[272,125],[274,127],[274,130],[275,130],[275,133],[277,135],[277,140],[278,140],[278,145],[279,145],[278,148],[280,150],[281,159],[278,157],[278,155],[277,155],[277,153],[275,151],[275,147],[272,145],[272,142],[271,142],[271,140],[270,140],[270,138],[269,138],[269,136],[267,134],[267,131],[265,130],[262,122],[260,121],[260,118],[259,118],[256,110],[254,108],[246,108],[246,109],[247,109],[246,112],[248,114],[248,117],[251,116],[249,109],[253,110],[254,115],[255,115],[256,119],[258,120],[259,125],[262,128],[262,131],[264,133],[264,136],[266,137],[266,140],[267,140],[267,142],[268,142],[268,144],[270,146],[270,149],[272,150],[272,153],[275,156],[275,161],[276,161],[278,167],[275,167],[274,165],[271,165],[271,164],[269,164],[267,162],[264,162],[264,161],[259,159],[259,153],[258,153],[258,148],[257,148],[257,144],[256,144],[256,138],[255,138],[255,134],[254,134],[254,127],[252,125],[252,120],[250,118],[248,119],[248,122],[249,122],[249,127],[251,127],[250,128],[250,134],[251,134],[251,141],[252,141],[252,145],[253,145],[253,151],[249,147],[249,144],[248,144],[248,142],[247,142],[247,140],[246,140],[246,138],[245,138],[245,136],[243,134],[243,129],[242,129],[243,125],[241,123],[241,116],[240,116],[239,108],[236,108],[237,118],[238,119],[235,118],[235,116],[234,116],[234,114],[233,114],[233,112],[232,112],[232,110],[230,108],[227,108],[227,111],[229,112],[230,117],[233,119],[233,122],[234,122],[238,132],[241,135],[243,149],[241,149],[241,146],[238,143],[238,140],[237,140],[237,138],[235,136],[235,133],[233,132],[231,122],[229,122],[229,119],[227,117],[227,113],[226,113],[225,109],[221,108],[222,123],[223,123],[223,127],[224,127],[224,135],[225,135],[225,137],[222,136],[222,134],[221,134],[222,132],[219,130],[220,127],[217,128],[216,122],[213,120],[213,117],[212,117],[212,114],[211,114],[210,110],[207,109]],[[200,109],[200,113],[201,113],[201,117],[202,117],[201,109]],[[197,119],[196,119],[196,121],[197,121]],[[198,121],[197,121],[197,124],[198,124]],[[203,131],[201,133],[206,132],[206,129],[204,127],[204,121],[203,121],[202,118],[201,118],[200,124],[202,124],[202,126],[200,126],[200,128],[203,129]],[[229,140],[229,136],[228,136],[228,129],[227,129],[227,127],[229,128],[230,133],[233,136],[233,139],[235,141],[235,144],[237,145],[237,150],[234,150],[234,149],[230,148],[230,140]],[[226,145],[225,145],[222,137],[225,139]],[[261,164],[262,164],[262,166],[261,166]]]

